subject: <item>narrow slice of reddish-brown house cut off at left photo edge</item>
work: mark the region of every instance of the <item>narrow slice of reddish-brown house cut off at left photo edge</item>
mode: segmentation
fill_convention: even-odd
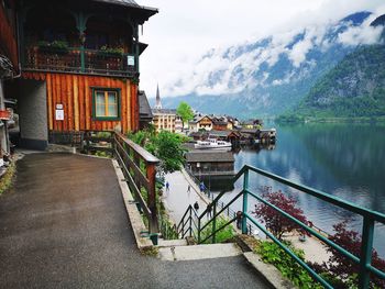
[[[9,129],[18,125],[13,110],[9,108],[9,103],[15,101],[4,89],[6,84],[20,73],[15,4],[13,0],[0,1],[0,167],[10,154]]]

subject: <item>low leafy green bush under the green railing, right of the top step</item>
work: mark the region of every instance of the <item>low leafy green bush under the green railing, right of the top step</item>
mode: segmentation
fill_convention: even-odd
[[[300,259],[305,260],[305,253],[301,249],[295,248],[289,242],[285,245],[296,254]],[[255,253],[262,256],[264,263],[274,265],[284,277],[289,279],[295,286],[301,289],[323,288],[301,267],[294,258],[292,258],[277,244],[268,241],[263,241],[254,249]]]

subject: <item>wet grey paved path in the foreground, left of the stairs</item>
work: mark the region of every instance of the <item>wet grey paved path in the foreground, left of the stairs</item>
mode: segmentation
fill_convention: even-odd
[[[241,256],[142,256],[110,160],[32,154],[0,197],[0,288],[267,287]]]

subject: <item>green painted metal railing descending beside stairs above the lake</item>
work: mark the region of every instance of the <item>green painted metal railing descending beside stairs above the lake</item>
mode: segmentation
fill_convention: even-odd
[[[350,212],[353,212],[355,214],[363,216],[363,229],[362,229],[362,247],[361,247],[361,256],[355,256],[352,253],[348,252],[340,245],[336,244],[334,242],[330,241],[319,232],[315,231],[312,227],[308,226],[307,224],[300,222],[299,220],[293,218],[290,214],[286,213],[285,211],[280,210],[279,208],[275,207],[274,204],[270,203],[265,199],[263,199],[261,196],[250,191],[249,189],[249,179],[250,179],[250,173],[254,173],[264,177],[267,177],[270,179],[273,179],[275,181],[278,181],[283,185],[286,185],[290,188],[297,189],[301,192],[308,193],[310,196],[314,196],[322,201],[326,201],[328,203],[334,204],[337,207],[343,208]],[[337,197],[330,196],[326,192],[312,189],[310,187],[296,184],[294,181],[290,181],[288,179],[282,178],[277,175],[271,174],[268,171],[251,167],[251,166],[244,166],[234,177],[234,182],[239,180],[243,176],[243,189],[241,192],[239,192],[228,204],[220,210],[217,210],[218,203],[220,202],[220,199],[223,197],[224,192],[217,196],[216,199],[212,200],[211,207],[213,211],[212,218],[205,224],[202,224],[202,219],[208,212],[208,209],[204,210],[204,212],[200,215],[197,215],[195,220],[197,220],[198,224],[196,225],[196,231],[198,234],[198,243],[201,244],[206,242],[207,240],[211,238],[212,243],[216,243],[216,235],[217,233],[226,227],[227,225],[230,225],[233,221],[238,220],[238,222],[241,222],[241,229],[242,233],[248,233],[248,220],[252,222],[255,226],[257,226],[262,232],[264,232],[273,242],[275,242],[279,247],[282,247],[288,255],[290,255],[299,265],[301,265],[317,281],[319,281],[324,288],[333,288],[330,284],[328,284],[321,276],[319,276],[312,268],[310,268],[304,260],[301,260],[297,255],[295,255],[284,243],[282,243],[278,238],[276,238],[271,232],[268,232],[252,214],[248,212],[248,203],[249,199],[253,198],[256,199],[260,202],[263,202],[264,204],[273,208],[277,213],[284,215],[285,218],[292,220],[294,223],[302,227],[306,232],[314,235],[315,237],[319,238],[324,244],[329,245],[333,249],[338,251],[339,253],[343,254],[346,258],[351,259],[355,264],[360,266],[360,273],[359,273],[359,288],[370,288],[370,278],[371,274],[385,279],[385,273],[376,269],[372,266],[372,252],[373,252],[373,235],[374,235],[374,225],[375,223],[382,223],[385,224],[385,214],[371,211],[367,209],[364,209],[362,207],[359,207],[352,202],[344,201],[342,199],[339,199]],[[242,197],[242,219],[239,216],[234,216],[228,222],[222,225],[221,227],[217,227],[217,218],[219,218],[233,202],[235,202],[239,198]],[[184,222],[179,223],[179,226],[184,226],[184,232],[190,232],[190,235],[195,231],[194,227],[187,226],[185,229],[185,225],[188,224],[185,220],[189,220],[189,218],[193,218],[191,211],[194,209],[191,207],[188,208],[186,211],[186,214],[183,219]],[[205,240],[201,240],[200,234],[202,230],[205,230],[208,225],[212,224],[212,233],[207,236]],[[184,236],[184,235],[183,235]]]

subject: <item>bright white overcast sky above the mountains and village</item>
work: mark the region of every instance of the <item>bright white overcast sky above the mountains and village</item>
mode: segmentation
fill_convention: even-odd
[[[384,0],[138,0],[158,8],[144,24],[141,41],[141,89],[155,97],[186,93],[174,82],[188,76],[211,48],[256,41],[271,34],[290,34],[306,25],[336,22],[358,11],[385,13]]]

